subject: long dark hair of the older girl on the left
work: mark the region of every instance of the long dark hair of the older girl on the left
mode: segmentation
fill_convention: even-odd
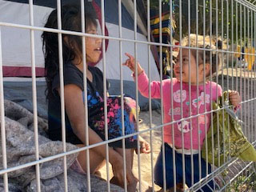
[[[88,8],[92,6],[85,6],[85,20],[86,29],[88,26],[97,26],[95,14],[89,12]],[[62,30],[72,30],[82,32],[81,23],[81,7],[78,5],[65,5],[61,10]],[[46,22],[46,28],[58,29],[57,9],[53,10]],[[65,41],[64,41],[65,38]],[[58,34],[53,32],[44,31],[42,33],[42,50],[45,58],[46,70],[46,98],[52,96],[52,81],[54,76],[58,74],[59,58],[58,58]],[[74,47],[76,49],[74,49]],[[62,34],[62,52],[63,52],[63,65],[67,62],[74,60],[78,57],[76,53],[82,53],[82,38],[77,35]]]

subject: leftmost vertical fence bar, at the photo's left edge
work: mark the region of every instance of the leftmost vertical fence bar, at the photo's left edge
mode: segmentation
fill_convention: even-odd
[[[1,114],[1,140],[2,140],[2,168],[7,169],[7,154],[6,154],[6,120],[5,106],[3,96],[3,74],[2,74],[2,28],[0,27],[0,114]],[[8,192],[8,174],[3,174],[4,190]]]

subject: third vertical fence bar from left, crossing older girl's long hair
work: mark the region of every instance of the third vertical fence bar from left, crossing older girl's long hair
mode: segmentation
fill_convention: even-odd
[[[57,0],[57,18],[58,30],[62,29],[62,7],[61,1]],[[66,123],[65,123],[65,102],[64,102],[64,78],[63,78],[63,50],[62,50],[62,33],[58,33],[58,59],[59,59],[59,78],[60,78],[60,98],[61,98],[61,111],[62,111],[62,146],[63,152],[66,152]],[[68,191],[67,186],[67,169],[66,169],[66,156],[63,157],[63,170],[64,170],[64,188]]]

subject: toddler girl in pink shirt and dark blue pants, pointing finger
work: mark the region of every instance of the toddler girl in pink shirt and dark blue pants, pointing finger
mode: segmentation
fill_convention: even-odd
[[[185,38],[182,41],[182,46],[189,46],[188,42],[188,38]],[[171,125],[164,126],[167,189],[174,186],[173,148],[176,164],[175,182],[177,184],[183,182],[185,179],[186,185],[189,187],[192,186],[201,178],[206,177],[206,166],[208,166],[208,174],[211,172],[210,164],[206,164],[206,161],[201,158],[199,153],[201,153],[200,149],[206,138],[206,132],[210,128],[211,114],[206,112],[211,110],[211,103],[213,101],[215,102],[218,96],[222,94],[222,87],[216,82],[207,81],[206,78],[211,73],[218,71],[218,66],[222,59],[218,58],[216,51],[211,51],[215,50],[216,47],[211,45],[210,42],[205,42],[202,45],[198,42],[197,44],[195,35],[190,36],[190,42],[190,46],[192,47],[198,45],[199,48],[205,49],[205,51],[198,50],[198,63],[197,50],[182,48],[179,50],[174,65],[176,78],[162,81],[164,123],[177,121]],[[126,55],[129,58],[124,65],[128,66],[134,72],[134,57],[130,54]],[[210,59],[212,62],[210,62]],[[151,97],[161,98],[161,83],[156,81],[150,82],[150,87]],[[143,96],[149,97],[149,79],[139,63],[138,90]],[[240,96],[238,92],[232,91],[229,98],[233,106],[239,105]],[[200,114],[198,117],[190,118],[190,116],[198,114]],[[186,118],[186,120],[182,120],[182,118]],[[183,178],[182,154],[185,154],[184,175],[186,178]],[[191,155],[193,156],[193,165],[191,164]],[[163,175],[162,157],[163,152],[161,150],[154,166],[155,183],[161,187],[164,186],[165,177]],[[192,167],[194,167],[194,170],[192,170]],[[214,189],[214,182],[210,180],[207,184],[202,187],[202,190],[212,191]]]

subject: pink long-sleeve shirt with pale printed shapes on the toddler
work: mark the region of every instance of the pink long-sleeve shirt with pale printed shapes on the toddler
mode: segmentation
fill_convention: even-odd
[[[160,82],[150,82],[152,98],[161,98],[160,86]],[[173,89],[172,92],[171,87]],[[198,150],[198,146],[202,147],[203,141],[206,138],[206,132],[210,127],[211,115],[210,113],[206,115],[203,113],[210,111],[211,102],[216,101],[217,97],[222,95],[222,87],[216,82],[206,82],[206,85],[198,86],[198,91],[197,86],[190,87],[191,91],[189,91],[189,84],[183,82],[181,90],[181,82],[179,82],[177,78],[162,81],[164,123],[202,114],[199,115],[198,118],[190,118],[192,121],[186,119],[175,122],[173,125],[164,126],[164,141],[177,148],[182,148],[183,132],[184,148],[191,149],[190,132],[192,130],[192,148]],[[138,76],[138,90],[143,96],[149,97],[149,79],[145,72],[142,72],[142,74]],[[171,103],[172,101],[173,105]],[[174,127],[174,142],[172,141],[172,126]]]

